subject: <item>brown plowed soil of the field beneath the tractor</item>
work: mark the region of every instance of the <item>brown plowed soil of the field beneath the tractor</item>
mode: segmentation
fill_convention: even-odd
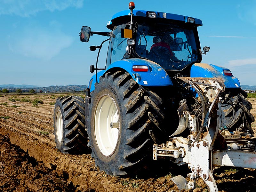
[[[169,163],[170,166],[163,169],[164,162],[157,161],[150,174],[121,178],[97,170],[90,154],[60,153],[52,126],[52,104],[58,96],[0,95],[0,191],[179,191],[170,178],[179,174],[186,178],[187,166]],[[34,106],[32,102],[10,98],[39,99],[43,103]],[[249,98],[249,101],[253,105],[252,115],[256,117],[256,99]],[[256,129],[255,122],[252,128]],[[223,192],[255,191],[255,177],[254,169],[221,167],[214,171],[218,189]],[[197,180],[196,187],[194,191],[208,191],[202,179]]]

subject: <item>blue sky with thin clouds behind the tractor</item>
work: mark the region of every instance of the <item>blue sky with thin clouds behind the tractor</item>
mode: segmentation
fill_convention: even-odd
[[[135,9],[199,18],[201,47],[210,46],[204,63],[231,69],[241,84],[256,85],[256,0],[139,1]],[[107,21],[128,9],[129,1],[0,0],[0,84],[39,86],[88,84],[105,37],[79,40],[81,26],[109,31]],[[107,43],[100,54],[105,66]]]

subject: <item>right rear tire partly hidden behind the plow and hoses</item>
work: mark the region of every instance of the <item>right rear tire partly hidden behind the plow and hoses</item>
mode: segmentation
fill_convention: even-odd
[[[252,104],[246,99],[247,94],[241,89],[227,89],[226,101],[221,107],[221,128],[230,131],[249,130],[253,134],[251,123],[254,117],[250,113]]]

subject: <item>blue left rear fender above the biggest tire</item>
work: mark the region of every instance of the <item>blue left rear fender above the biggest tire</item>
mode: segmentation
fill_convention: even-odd
[[[148,71],[145,72],[135,72],[132,70],[132,66],[139,65],[139,66],[148,66]],[[164,68],[162,68],[157,63],[145,60],[145,59],[124,59],[118,60],[112,63],[106,71],[100,71],[97,73],[97,78],[99,82],[100,76],[104,73],[113,70],[113,68],[119,68],[127,71],[132,78],[140,85],[144,86],[166,86],[166,85],[173,85],[171,78],[166,73]],[[116,70],[116,69],[115,69]],[[95,75],[92,76],[89,82],[89,88],[91,91],[94,90],[94,83],[96,82]]]

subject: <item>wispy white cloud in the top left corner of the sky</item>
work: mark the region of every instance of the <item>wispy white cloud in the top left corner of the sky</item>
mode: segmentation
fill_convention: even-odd
[[[81,8],[84,0],[0,0],[0,15],[28,17],[41,11],[62,11],[68,7]]]

